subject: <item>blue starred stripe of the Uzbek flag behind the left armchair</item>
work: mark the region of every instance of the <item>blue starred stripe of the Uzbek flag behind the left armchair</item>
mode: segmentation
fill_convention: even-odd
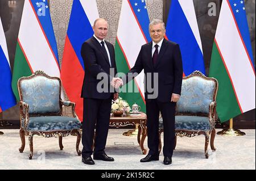
[[[30,0],[30,1],[34,7],[36,16],[38,16],[38,19],[42,25],[43,31],[46,34],[49,44],[51,45],[52,51],[55,54],[58,64],[60,65],[58,50],[57,50],[57,43],[56,43],[56,39],[55,39],[53,27],[52,27],[52,20],[51,20],[51,15],[49,12],[49,6],[47,4],[47,0]]]

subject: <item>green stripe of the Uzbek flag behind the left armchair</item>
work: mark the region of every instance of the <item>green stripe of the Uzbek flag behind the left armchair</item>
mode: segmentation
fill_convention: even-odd
[[[16,100],[19,100],[18,92],[18,80],[20,77],[29,76],[32,72],[27,64],[26,58],[19,47],[19,43],[16,45],[14,68],[13,68],[13,80],[11,81],[11,87],[13,87],[13,92]]]

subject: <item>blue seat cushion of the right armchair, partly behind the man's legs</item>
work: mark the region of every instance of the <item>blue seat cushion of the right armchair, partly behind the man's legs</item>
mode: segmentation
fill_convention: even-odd
[[[162,118],[159,119],[159,128],[163,129]],[[175,130],[178,129],[184,129],[188,131],[209,131],[209,118],[202,116],[175,116]]]

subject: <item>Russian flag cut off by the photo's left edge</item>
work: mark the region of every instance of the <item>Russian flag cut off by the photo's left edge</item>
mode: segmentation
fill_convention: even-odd
[[[0,112],[15,106],[16,100],[11,89],[11,68],[5,33],[0,17]]]

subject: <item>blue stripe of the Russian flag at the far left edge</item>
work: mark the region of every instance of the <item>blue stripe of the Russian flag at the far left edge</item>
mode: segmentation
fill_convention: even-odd
[[[0,45],[0,107],[2,111],[15,106],[16,100],[11,89],[11,69]]]

